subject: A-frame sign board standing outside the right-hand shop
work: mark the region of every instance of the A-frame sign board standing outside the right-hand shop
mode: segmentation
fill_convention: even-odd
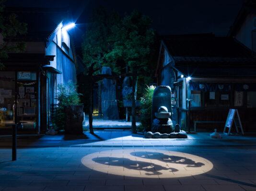
[[[233,122],[235,125],[236,132],[239,133],[238,128],[241,128],[241,133],[242,135],[244,135],[244,130],[237,109],[229,109],[229,114],[227,117],[223,133],[225,133],[226,129],[229,128],[228,133],[225,134],[230,135]]]

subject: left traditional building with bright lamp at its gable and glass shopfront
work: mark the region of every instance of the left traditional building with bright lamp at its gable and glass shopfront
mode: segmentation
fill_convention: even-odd
[[[51,125],[57,85],[76,82],[76,54],[68,29],[74,26],[69,25],[71,14],[66,8],[6,8],[5,12],[27,23],[28,33],[12,39],[26,42],[25,52],[9,53],[0,71],[0,129],[10,128],[16,118],[24,130],[44,133]]]

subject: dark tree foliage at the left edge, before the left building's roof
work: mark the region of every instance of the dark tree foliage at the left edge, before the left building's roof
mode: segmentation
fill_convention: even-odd
[[[0,0],[0,60],[8,58],[8,52],[23,52],[25,42],[12,42],[18,36],[27,32],[26,23],[18,21],[18,16],[14,13],[9,15],[4,12],[5,0]],[[0,62],[0,70],[4,65]]]

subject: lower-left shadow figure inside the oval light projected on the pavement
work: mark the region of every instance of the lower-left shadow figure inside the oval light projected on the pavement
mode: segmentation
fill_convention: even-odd
[[[136,161],[136,160],[131,160],[131,159],[127,159],[127,158],[113,158],[111,157],[111,160],[109,160],[109,157],[98,157],[98,158],[94,158],[92,159],[93,161],[100,163],[100,164],[107,164],[107,161],[111,161],[111,166],[119,166],[119,167],[123,167],[124,164],[120,163],[120,161],[126,160],[131,163],[134,162],[134,164],[136,163],[136,165],[126,165],[125,168],[130,169],[130,170],[143,170],[143,171],[147,171],[148,173],[145,173],[146,175],[161,175],[163,173],[157,171],[157,170],[170,170],[170,172],[176,172],[178,171],[175,168],[167,168],[167,167],[163,167],[161,165],[157,165],[157,164],[152,164],[150,162],[144,162],[144,161]],[[157,170],[155,170],[154,168],[156,168]],[[150,173],[151,172],[151,173]]]

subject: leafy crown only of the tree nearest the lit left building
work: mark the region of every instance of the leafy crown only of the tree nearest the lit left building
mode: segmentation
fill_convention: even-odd
[[[118,24],[120,19],[117,12],[107,13],[105,7],[99,6],[93,10],[82,43],[83,61],[87,68],[96,63],[95,68],[108,66],[113,72],[119,71],[116,59],[106,59],[105,54],[112,48],[113,42],[109,40],[111,28]]]

